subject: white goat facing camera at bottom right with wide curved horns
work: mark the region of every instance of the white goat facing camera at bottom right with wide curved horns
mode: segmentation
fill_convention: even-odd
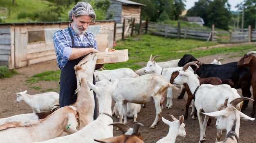
[[[236,98],[235,100],[229,103],[231,104],[231,106],[227,106],[227,101],[228,101],[228,98],[227,98],[222,108],[220,109],[220,111],[211,112],[211,113],[202,113],[204,115],[217,118],[216,128],[218,129],[219,134],[217,135],[216,142],[220,140],[222,136],[222,130],[227,130],[227,134],[230,131],[234,131],[237,135],[237,138],[239,138],[240,118],[245,120],[251,120],[251,121],[255,119],[245,115],[244,113],[238,111],[235,108],[237,104],[245,100],[252,100],[252,99]]]

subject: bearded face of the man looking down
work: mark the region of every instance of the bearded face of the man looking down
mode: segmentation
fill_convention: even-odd
[[[92,17],[88,15],[80,15],[78,17],[72,16],[73,19],[73,29],[74,31],[81,35],[85,33],[85,30],[89,26],[90,22],[92,21]]]

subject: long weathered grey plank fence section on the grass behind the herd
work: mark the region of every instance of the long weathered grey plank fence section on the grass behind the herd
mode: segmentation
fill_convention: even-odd
[[[202,28],[181,28],[178,23],[177,27],[168,24],[158,24],[155,22],[148,22],[148,31],[155,35],[162,35],[165,37],[177,37],[177,38],[191,38],[191,39],[203,39],[209,41],[216,40],[216,32],[213,30],[207,30]],[[212,33],[213,36],[212,36]]]

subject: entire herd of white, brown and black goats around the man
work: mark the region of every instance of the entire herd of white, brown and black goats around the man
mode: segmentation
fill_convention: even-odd
[[[209,117],[215,117],[218,143],[238,143],[240,118],[253,121],[256,100],[256,52],[248,52],[240,61],[222,65],[220,59],[203,64],[190,54],[181,59],[162,63],[152,57],[146,67],[133,71],[128,68],[95,70],[97,55],[89,54],[74,67],[77,80],[77,100],[70,106],[58,107],[59,95],[55,92],[29,95],[18,92],[17,102],[24,100],[33,113],[0,119],[2,143],[144,143],[139,133],[143,124],[137,122],[137,114],[149,102],[155,104],[155,120],[149,128],[155,128],[162,115],[167,92],[166,108],[173,105],[173,89],[181,90],[178,98],[187,92],[188,100],[184,116],[173,121],[162,117],[169,132],[157,143],[175,143],[177,136],[186,137],[184,119],[188,118],[189,105],[193,119],[198,118],[200,140],[206,140],[205,131]],[[93,85],[92,76],[96,85]],[[253,89],[251,99],[250,87]],[[242,89],[241,97],[236,89]],[[97,93],[99,117],[93,120],[94,96]],[[112,99],[115,106],[112,110]],[[244,111],[249,100],[253,101],[251,117]],[[119,118],[113,123],[112,115]],[[134,119],[133,127],[126,125],[127,116]],[[204,119],[203,119],[204,116]],[[124,122],[123,122],[124,120]],[[123,132],[113,137],[113,126]],[[227,135],[221,140],[222,131]]]

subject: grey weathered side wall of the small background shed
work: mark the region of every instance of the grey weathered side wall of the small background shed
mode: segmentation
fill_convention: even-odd
[[[110,0],[110,6],[106,13],[106,19],[115,20],[117,23],[122,21],[122,3],[115,0]]]

